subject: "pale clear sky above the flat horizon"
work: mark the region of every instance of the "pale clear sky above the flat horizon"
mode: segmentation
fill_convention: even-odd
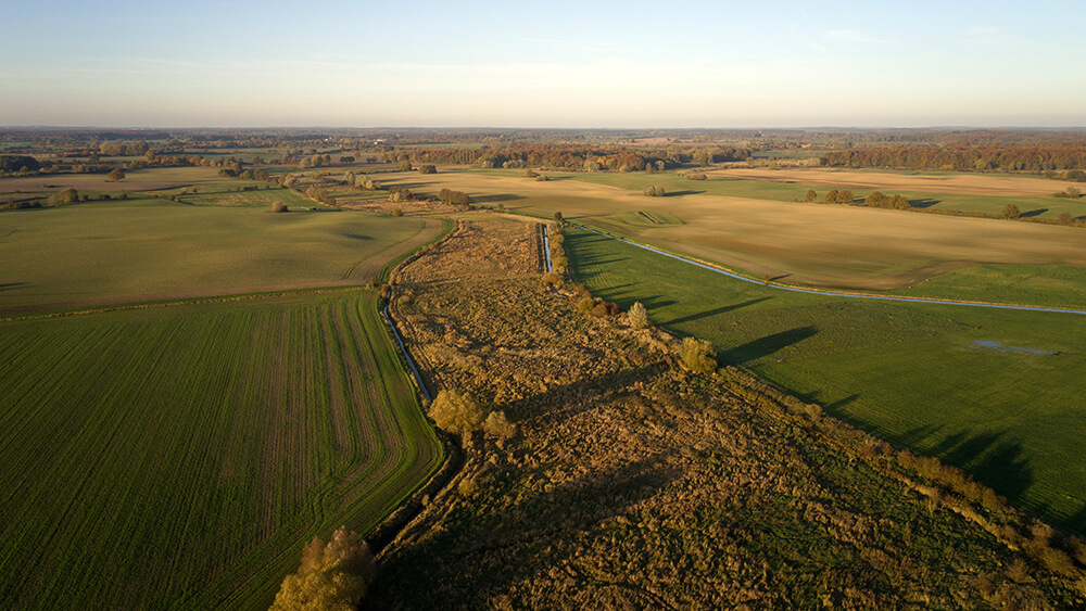
[[[1086,126],[1086,0],[5,4],[0,126]]]

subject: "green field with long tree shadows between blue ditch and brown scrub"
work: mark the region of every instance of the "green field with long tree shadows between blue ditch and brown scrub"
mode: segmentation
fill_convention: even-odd
[[[1086,532],[1086,316],[791,293],[577,228],[566,251],[594,294]]]

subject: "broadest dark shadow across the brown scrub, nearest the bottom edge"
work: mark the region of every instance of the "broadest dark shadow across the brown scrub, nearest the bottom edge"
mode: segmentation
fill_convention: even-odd
[[[363,608],[383,608],[403,599],[404,593],[390,591],[386,584],[407,583],[422,593],[444,589],[431,598],[449,608],[489,608],[491,593],[508,591],[523,583],[550,567],[551,558],[571,558],[572,550],[583,545],[585,534],[601,521],[636,511],[639,504],[678,478],[673,468],[647,458],[592,470],[556,484],[546,483],[550,478],[539,469],[529,478],[540,486],[531,494],[525,494],[523,482],[515,475],[485,480],[480,486],[488,489],[476,493],[489,499],[484,509],[469,520],[446,520],[440,531],[384,559]],[[502,562],[494,563],[495,557]],[[479,587],[443,588],[447,580],[466,580]],[[655,607],[653,594],[631,589],[639,608]]]

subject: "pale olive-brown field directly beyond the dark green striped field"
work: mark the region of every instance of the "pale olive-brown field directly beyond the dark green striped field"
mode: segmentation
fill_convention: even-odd
[[[0,314],[366,283],[440,230],[417,218],[161,199],[9,212]]]

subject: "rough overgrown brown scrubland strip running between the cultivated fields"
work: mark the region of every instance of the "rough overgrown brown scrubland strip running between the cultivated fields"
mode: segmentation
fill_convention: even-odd
[[[504,410],[520,435],[468,448],[378,559],[371,608],[1083,601],[1078,569],[1040,569],[985,530],[1003,518],[955,512],[851,429],[738,371],[687,372],[666,334],[579,314],[527,271],[526,236],[463,225],[396,279],[438,386]]]

